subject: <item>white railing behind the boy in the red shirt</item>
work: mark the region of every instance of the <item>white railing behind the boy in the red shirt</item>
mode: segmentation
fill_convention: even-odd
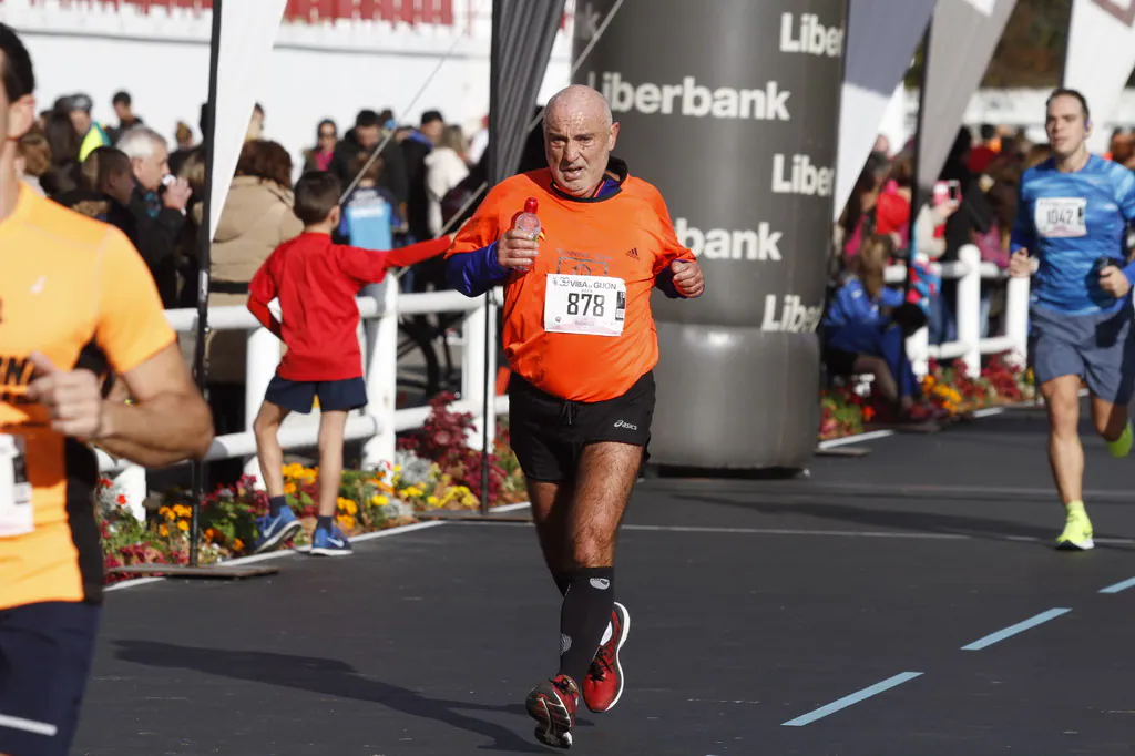
[[[486,296],[490,297],[489,308],[485,306]],[[496,308],[499,304],[499,289],[488,295],[474,299],[460,292],[428,292],[423,294],[400,294],[397,282],[388,277],[381,285],[368,286],[359,296],[359,313],[362,321],[359,327],[359,342],[363,354],[364,379],[367,381],[365,408],[353,412],[347,419],[346,439],[364,440],[362,450],[363,467],[377,465],[382,461],[392,461],[395,451],[395,434],[403,430],[420,428],[429,417],[428,406],[395,409],[397,397],[397,362],[398,362],[398,317],[411,314],[434,314],[442,312],[463,312],[462,321],[464,346],[461,361],[461,395],[454,402],[457,412],[469,412],[474,417],[476,429],[470,432],[466,443],[473,448],[481,447],[481,423],[488,422],[490,443],[493,429],[496,427],[498,412],[507,412],[508,397],[496,396],[485,405],[485,378],[488,376],[490,396],[495,396],[493,386],[496,379]],[[279,317],[278,310],[276,311]],[[167,310],[166,319],[178,334],[195,334],[197,329],[197,311],[195,309]],[[257,460],[257,439],[252,423],[264,398],[264,392],[276,372],[280,360],[280,342],[268,329],[263,328],[244,305],[209,308],[210,330],[243,330],[247,333],[247,354],[245,363],[244,426],[241,432],[217,436],[207,461],[244,459],[244,471],[255,476],[262,488],[263,477]],[[486,371],[486,339],[493,344],[488,350],[488,370]],[[285,450],[314,447],[319,438],[318,412],[311,415],[292,413],[284,421],[279,431],[280,445]],[[145,469],[125,460],[108,456],[98,451],[99,469],[111,473],[118,493],[124,494],[127,507],[138,516],[144,516],[143,501],[146,497]],[[184,464],[184,463],[182,463]]]

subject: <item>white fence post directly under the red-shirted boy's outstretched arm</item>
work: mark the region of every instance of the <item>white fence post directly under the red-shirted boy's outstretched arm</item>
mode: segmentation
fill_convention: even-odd
[[[380,286],[368,286],[363,293],[378,300],[380,314],[365,320],[367,331],[367,409],[378,423],[378,435],[362,447],[362,465],[373,470],[379,463],[394,462],[394,411],[398,390],[398,282],[387,276]]]

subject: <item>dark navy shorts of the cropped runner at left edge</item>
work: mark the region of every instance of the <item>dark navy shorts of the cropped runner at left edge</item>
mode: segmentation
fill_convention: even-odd
[[[72,602],[0,610],[0,754],[67,755],[100,614]]]

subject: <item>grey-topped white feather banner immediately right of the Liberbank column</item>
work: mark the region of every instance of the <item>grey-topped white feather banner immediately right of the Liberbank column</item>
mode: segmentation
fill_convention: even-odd
[[[849,0],[840,95],[835,219],[867,163],[894,90],[910,67],[938,0]]]

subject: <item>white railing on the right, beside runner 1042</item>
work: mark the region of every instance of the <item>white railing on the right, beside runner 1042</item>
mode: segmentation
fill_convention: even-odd
[[[907,354],[918,376],[925,376],[927,361],[961,359],[966,371],[976,376],[981,370],[983,354],[1008,352],[1009,359],[1024,364],[1028,356],[1028,278],[1010,278],[992,262],[982,262],[981,251],[973,244],[958,250],[958,260],[931,263],[931,270],[943,279],[958,282],[957,312],[955,322],[958,339],[943,344],[930,344],[930,329],[923,328],[907,339]],[[906,280],[906,266],[886,269],[888,284]],[[1004,336],[982,338],[982,280],[1004,280]]]

